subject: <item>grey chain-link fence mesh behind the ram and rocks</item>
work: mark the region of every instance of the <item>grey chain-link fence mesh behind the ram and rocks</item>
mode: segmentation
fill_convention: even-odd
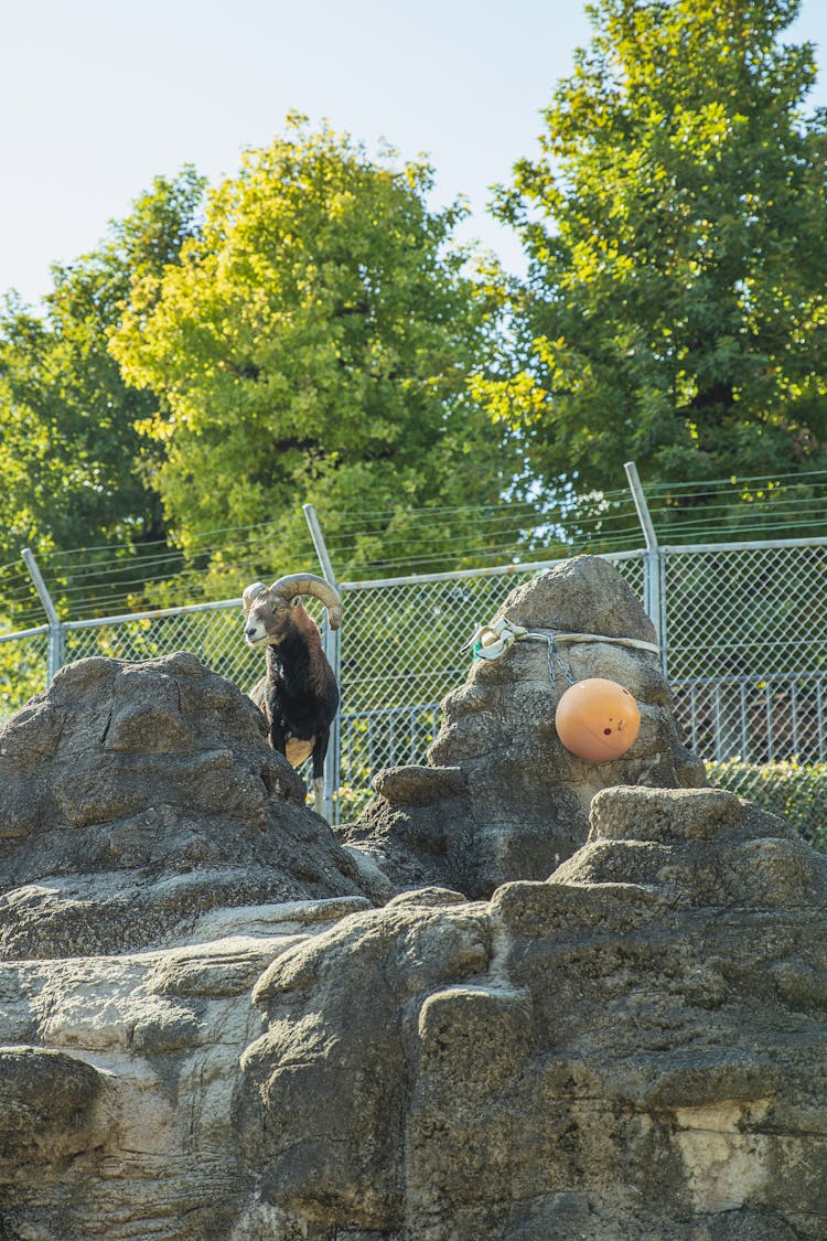
[[[764,791],[774,807],[777,794],[787,814],[795,802],[806,835],[827,833],[818,809],[827,799],[794,792],[806,778],[820,794],[826,762],[827,539],[650,546],[606,558],[656,623],[677,720],[713,782],[758,800]],[[440,700],[466,675],[464,643],[551,563],[340,583],[346,624],[327,635],[342,688],[329,777],[336,819],[365,804],[376,771],[424,758]],[[42,689],[50,668],[86,655],[191,650],[248,690],[263,661],[243,642],[239,607],[229,599],[5,635],[4,714]]]

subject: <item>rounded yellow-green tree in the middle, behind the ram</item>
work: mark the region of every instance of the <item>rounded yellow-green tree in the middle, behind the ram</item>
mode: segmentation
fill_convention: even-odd
[[[430,189],[425,164],[293,115],[211,195],[182,263],[134,288],[112,349],[160,398],[144,426],[185,547],[276,521],[267,563],[289,566],[312,500],[335,537],[361,521],[336,566],[353,571],[415,544],[413,509],[500,499],[503,437],[466,382],[490,308],[450,247],[462,208],[430,211]]]

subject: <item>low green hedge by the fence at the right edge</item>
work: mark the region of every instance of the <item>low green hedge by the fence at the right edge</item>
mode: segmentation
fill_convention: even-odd
[[[707,763],[707,778],[770,810],[816,849],[827,850],[827,763]]]

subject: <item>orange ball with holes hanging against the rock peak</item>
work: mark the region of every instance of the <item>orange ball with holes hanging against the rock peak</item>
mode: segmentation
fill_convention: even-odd
[[[557,704],[557,735],[573,755],[589,763],[620,758],[640,732],[637,702],[622,685],[591,676],[570,685]]]

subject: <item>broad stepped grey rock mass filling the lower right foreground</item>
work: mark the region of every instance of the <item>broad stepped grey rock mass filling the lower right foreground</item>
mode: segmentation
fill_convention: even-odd
[[[255,988],[249,1235],[827,1236],[826,931],[780,820],[630,787],[548,882],[345,918]]]

